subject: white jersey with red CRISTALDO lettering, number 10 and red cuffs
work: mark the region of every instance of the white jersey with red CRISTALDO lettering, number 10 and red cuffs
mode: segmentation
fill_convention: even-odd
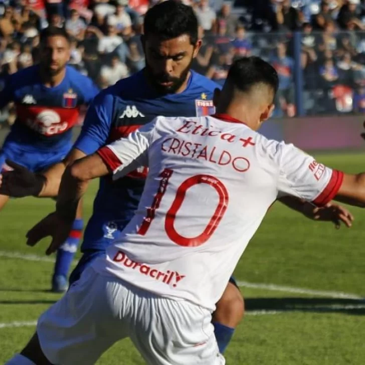
[[[210,310],[275,200],[323,205],[343,177],[227,115],[157,117],[98,153],[114,178],[149,172],[134,218],[94,268]]]

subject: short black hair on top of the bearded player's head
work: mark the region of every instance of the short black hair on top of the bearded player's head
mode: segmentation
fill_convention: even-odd
[[[150,8],[144,17],[144,36],[156,35],[172,39],[187,34],[190,43],[198,41],[198,19],[192,7],[167,0]]]

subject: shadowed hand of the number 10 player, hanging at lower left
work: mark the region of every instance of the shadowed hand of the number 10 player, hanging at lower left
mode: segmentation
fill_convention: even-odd
[[[52,242],[46,251],[46,255],[51,255],[66,241],[72,223],[73,221],[61,219],[56,212],[51,213],[27,233],[27,245],[35,246],[43,238],[51,236]]]

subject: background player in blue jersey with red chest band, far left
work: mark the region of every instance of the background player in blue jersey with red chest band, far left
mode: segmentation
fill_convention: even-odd
[[[70,151],[72,127],[78,122],[81,105],[88,105],[99,89],[86,76],[67,66],[70,41],[63,29],[50,27],[42,33],[39,65],[21,70],[6,80],[0,92],[0,108],[14,101],[17,118],[0,150],[0,170],[14,167],[9,159],[35,172],[62,161]],[[43,184],[32,187],[38,196]],[[0,209],[9,196],[0,195]],[[81,212],[73,230],[59,249],[52,277],[52,290],[67,289],[67,275],[82,234]]]

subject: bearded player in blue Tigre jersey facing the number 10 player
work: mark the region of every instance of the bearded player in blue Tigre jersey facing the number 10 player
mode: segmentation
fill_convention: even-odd
[[[191,7],[174,1],[149,9],[144,19],[142,38],[146,68],[103,90],[91,103],[81,134],[62,163],[44,173],[46,181],[18,168],[5,173],[0,193],[29,195],[29,186],[39,184],[39,196],[56,196],[65,167],[72,161],[95,152],[104,144],[128,135],[158,115],[201,116],[213,114],[213,91],[217,84],[190,70],[201,41],[198,22]],[[86,227],[81,246],[83,256],[72,272],[70,283],[105,248],[132,218],[141,196],[146,168],[141,166],[127,176],[113,181],[100,179],[93,215]],[[298,202],[297,210],[302,209]],[[28,244],[46,237],[47,218],[28,233]],[[224,243],[222,243],[224,244]],[[215,334],[221,352],[228,345],[235,327],[243,317],[244,302],[234,280],[217,303],[213,315]]]

